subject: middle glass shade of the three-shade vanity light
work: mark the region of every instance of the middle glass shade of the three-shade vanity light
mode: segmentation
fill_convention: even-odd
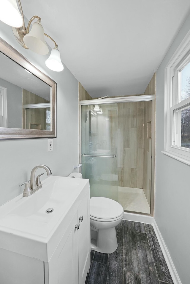
[[[39,23],[32,25],[31,31],[23,38],[26,46],[33,52],[45,55],[49,52],[44,37],[44,28]]]

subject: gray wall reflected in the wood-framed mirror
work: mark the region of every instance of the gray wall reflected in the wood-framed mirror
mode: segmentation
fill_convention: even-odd
[[[0,78],[0,86],[7,88],[7,126],[23,128],[22,88]]]

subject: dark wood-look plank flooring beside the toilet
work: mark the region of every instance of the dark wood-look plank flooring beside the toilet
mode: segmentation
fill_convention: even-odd
[[[123,220],[114,253],[91,251],[85,284],[173,284],[153,227]]]

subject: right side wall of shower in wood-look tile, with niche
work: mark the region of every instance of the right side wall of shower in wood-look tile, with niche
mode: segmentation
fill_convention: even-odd
[[[154,73],[148,84],[145,95],[156,94],[156,73]],[[152,139],[147,138],[147,123],[152,121],[152,102],[144,102],[144,168],[143,168],[143,190],[148,204],[151,203],[151,156]]]

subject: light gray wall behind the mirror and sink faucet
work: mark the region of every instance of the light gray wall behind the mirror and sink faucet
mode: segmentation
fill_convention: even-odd
[[[57,138],[53,139],[53,151],[47,152],[47,139],[0,141],[1,205],[23,192],[24,188],[18,185],[29,180],[34,166],[45,164],[54,175],[67,176],[73,171],[73,166],[77,165],[78,81],[66,66],[62,72],[49,70],[45,66],[48,55],[38,55],[21,47],[14,38],[11,27],[1,21],[0,37],[57,82]],[[42,177],[46,178],[46,173]]]

